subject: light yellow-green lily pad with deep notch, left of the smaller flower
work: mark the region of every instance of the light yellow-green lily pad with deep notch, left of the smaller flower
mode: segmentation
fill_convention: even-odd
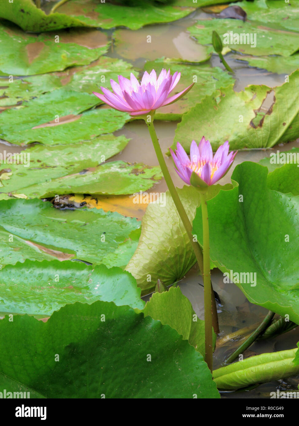
[[[0,168],[0,199],[48,198],[74,192],[123,195],[148,190],[162,178],[160,167],[125,161],[104,163],[127,143],[124,136],[105,135],[83,144],[34,145],[15,154],[15,160],[24,164],[10,164],[13,158],[9,157],[3,164],[6,168]],[[6,151],[5,155],[8,157]]]

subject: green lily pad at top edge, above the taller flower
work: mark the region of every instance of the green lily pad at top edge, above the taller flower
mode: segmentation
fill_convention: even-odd
[[[88,26],[139,29],[153,23],[176,21],[193,12],[196,7],[196,3],[188,0],[174,0],[170,5],[142,3],[134,7],[108,2],[104,4],[96,0],[69,0],[56,11],[70,15]]]

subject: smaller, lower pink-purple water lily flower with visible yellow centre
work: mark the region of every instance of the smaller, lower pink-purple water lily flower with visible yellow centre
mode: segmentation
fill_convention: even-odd
[[[201,139],[198,147],[195,141],[192,141],[190,147],[190,158],[186,154],[184,148],[181,144],[177,143],[177,149],[170,149],[171,156],[176,165],[176,172],[183,179],[186,184],[190,185],[190,178],[193,172],[205,183],[206,185],[215,184],[219,179],[221,179],[226,172],[229,170],[229,167],[232,165],[232,162],[235,159],[237,151],[229,152],[229,143],[228,141],[224,142],[218,150],[216,151],[213,157],[213,151],[211,144],[206,139]]]

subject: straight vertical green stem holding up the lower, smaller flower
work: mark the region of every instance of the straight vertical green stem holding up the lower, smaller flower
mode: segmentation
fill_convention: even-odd
[[[201,213],[203,216],[203,287],[205,309],[205,361],[212,372],[213,368],[213,340],[212,340],[212,294],[210,270],[210,242],[209,219],[206,204],[206,193],[200,192]]]

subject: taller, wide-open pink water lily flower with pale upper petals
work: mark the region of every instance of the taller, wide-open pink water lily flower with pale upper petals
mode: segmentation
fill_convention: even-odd
[[[97,92],[93,92],[93,94],[118,111],[129,112],[133,116],[144,115],[157,108],[172,104],[189,92],[194,85],[192,83],[182,92],[168,98],[168,95],[179,80],[180,72],[175,72],[174,75],[171,75],[170,70],[166,72],[166,69],[162,69],[157,78],[157,74],[153,69],[150,74],[145,71],[140,84],[132,73],[130,80],[119,75],[119,84],[112,79],[110,80],[114,93],[105,89],[105,87],[101,87],[104,95]]]

